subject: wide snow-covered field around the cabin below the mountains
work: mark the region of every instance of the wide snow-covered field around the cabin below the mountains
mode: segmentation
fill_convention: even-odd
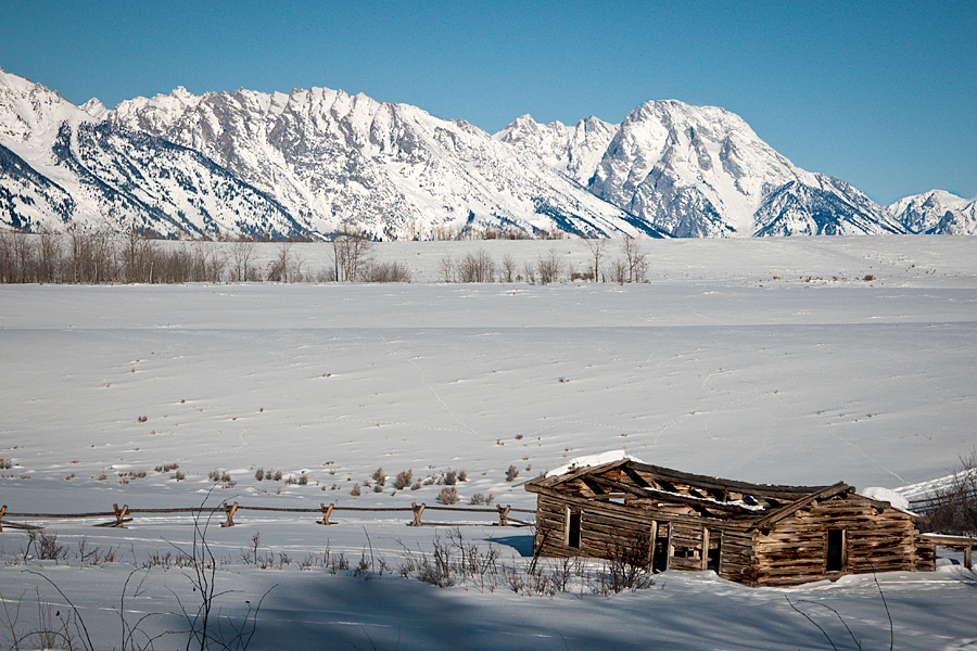
[[[970,239],[935,237],[685,240],[644,243],[650,282],[439,284],[439,265],[485,246],[521,267],[555,246],[583,265],[584,245],[557,242],[391,243],[378,259],[414,271],[410,285],[257,283],[195,286],[0,286],[0,481],[14,512],[249,506],[404,507],[435,503],[441,486],[391,495],[364,488],[382,467],[415,478],[465,469],[462,501],[532,508],[516,483],[572,457],[624,449],[649,463],[762,483],[897,488],[946,475],[975,444],[977,256]],[[269,245],[264,254],[277,251]],[[296,247],[307,265],[328,247]],[[865,280],[866,277],[872,280]],[[142,417],[145,417],[144,422]],[[183,481],[154,472],[179,463]],[[517,465],[516,483],[506,469]],[[308,485],[257,482],[256,468]],[[231,488],[213,486],[227,471]],[[528,470],[529,469],[529,470]],[[124,484],[118,473],[147,471]],[[104,473],[105,478],[100,480]],[[29,478],[28,478],[29,477]],[[338,487],[332,489],[333,484]],[[323,490],[325,488],[325,490]],[[491,516],[445,514],[458,522]],[[404,526],[407,513],[242,511],[213,526],[226,615],[240,618],[270,587],[252,649],[313,643],[360,649],[825,649],[977,646],[977,575],[941,550],[936,573],[846,577],[753,589],[711,573],[669,572],[647,590],[606,598],[580,586],[553,598],[474,585],[439,589],[393,573],[372,580],[321,567],[309,553],[361,554],[395,566],[404,547],[430,551],[443,529]],[[426,516],[427,519],[427,516]],[[433,516],[432,516],[433,520]],[[437,515],[441,520],[441,515]],[[0,534],[5,603],[34,587],[79,607],[101,648],[118,647],[123,584],[153,552],[186,547],[185,516],[43,522],[67,561],[33,556],[22,532]],[[40,522],[40,521],[38,521]],[[261,533],[274,569],[242,560]],[[467,526],[521,565],[531,529]],[[83,567],[78,545],[116,548]],[[283,564],[280,554],[292,560]],[[143,578],[143,574],[145,577]],[[125,610],[163,613],[179,629],[178,569],[130,584]],[[170,591],[172,590],[172,591]],[[26,607],[23,609],[26,612]],[[59,612],[61,612],[59,610]],[[170,614],[166,614],[170,613]],[[707,616],[708,614],[708,616]],[[2,625],[0,625],[2,635]],[[185,638],[163,638],[156,648]]]

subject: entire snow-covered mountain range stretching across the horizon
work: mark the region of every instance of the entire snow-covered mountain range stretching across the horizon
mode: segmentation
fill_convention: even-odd
[[[0,71],[0,222],[192,238],[973,234],[977,202],[934,191],[879,206],[737,115],[677,101],[620,125],[524,115],[490,136],[326,88],[79,107]]]

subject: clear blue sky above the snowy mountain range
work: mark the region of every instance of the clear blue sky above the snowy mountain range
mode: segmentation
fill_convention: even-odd
[[[677,99],[879,203],[977,195],[973,0],[2,0],[0,67],[76,104],[325,86],[490,132]]]

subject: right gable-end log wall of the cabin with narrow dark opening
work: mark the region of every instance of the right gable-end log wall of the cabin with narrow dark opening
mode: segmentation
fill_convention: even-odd
[[[757,580],[796,585],[834,575],[827,571],[829,529],[843,531],[841,574],[915,570],[912,518],[894,509],[842,496],[802,509],[757,537]]]

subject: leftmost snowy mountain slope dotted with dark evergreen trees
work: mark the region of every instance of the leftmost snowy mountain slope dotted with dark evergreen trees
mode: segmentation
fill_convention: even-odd
[[[200,153],[99,120],[2,71],[0,220],[31,231],[77,225],[194,238],[301,232],[275,200]]]

